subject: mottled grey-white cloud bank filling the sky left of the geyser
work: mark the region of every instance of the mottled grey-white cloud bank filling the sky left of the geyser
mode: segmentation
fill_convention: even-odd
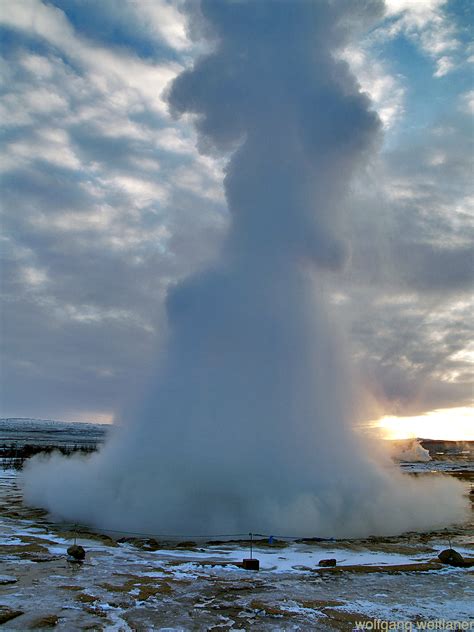
[[[148,66],[120,46],[89,64],[90,42],[45,11],[53,45],[12,31],[2,66],[2,414],[110,417],[160,348],[167,284],[212,256],[222,204],[159,85],[130,89],[128,64]],[[184,167],[199,178],[181,187]]]

